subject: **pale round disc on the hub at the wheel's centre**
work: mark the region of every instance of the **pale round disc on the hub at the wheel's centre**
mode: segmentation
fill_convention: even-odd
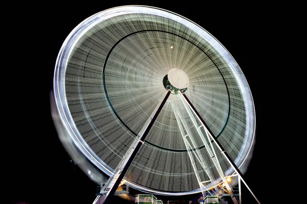
[[[184,89],[189,84],[189,78],[187,74],[181,69],[171,69],[167,74],[170,84],[178,89]]]

